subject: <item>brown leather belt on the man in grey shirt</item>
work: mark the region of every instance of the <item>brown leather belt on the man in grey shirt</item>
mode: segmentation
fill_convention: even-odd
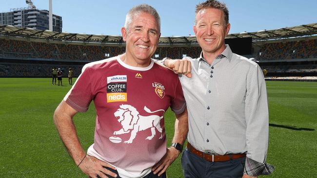
[[[207,154],[204,152],[201,152],[194,148],[189,142],[187,142],[187,149],[197,155],[198,157],[208,160],[211,162],[218,162],[218,161],[227,161],[227,160],[235,160],[238,158],[243,158],[246,156],[245,153],[243,154],[228,154],[228,155],[212,155],[212,154]]]

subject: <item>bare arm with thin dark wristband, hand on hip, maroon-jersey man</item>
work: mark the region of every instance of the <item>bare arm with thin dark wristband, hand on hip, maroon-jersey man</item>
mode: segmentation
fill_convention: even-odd
[[[104,168],[109,167],[116,170],[115,167],[95,157],[86,155],[79,142],[73,122],[73,117],[77,112],[77,110],[69,106],[65,101],[62,101],[54,112],[54,123],[69,154],[81,171],[92,178],[96,178],[97,175],[101,178],[108,178],[105,174],[117,177],[115,173]]]

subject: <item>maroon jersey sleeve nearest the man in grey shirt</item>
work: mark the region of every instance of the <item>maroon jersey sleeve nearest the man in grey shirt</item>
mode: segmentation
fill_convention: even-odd
[[[174,90],[174,98],[171,100],[171,109],[175,114],[181,114],[186,108],[186,102],[180,81],[178,77],[176,78],[176,87]]]

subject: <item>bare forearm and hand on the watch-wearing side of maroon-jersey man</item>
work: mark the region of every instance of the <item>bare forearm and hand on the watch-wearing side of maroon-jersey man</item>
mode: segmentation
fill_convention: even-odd
[[[183,144],[188,133],[188,116],[187,116],[187,108],[185,108],[184,112],[181,114],[175,114],[175,131],[173,137],[173,143]],[[180,152],[175,147],[171,146],[167,148],[166,154],[163,156],[161,160],[158,161],[153,167],[152,171],[154,174],[158,173],[158,176],[163,174],[169,165],[173,163],[174,160],[178,157]]]

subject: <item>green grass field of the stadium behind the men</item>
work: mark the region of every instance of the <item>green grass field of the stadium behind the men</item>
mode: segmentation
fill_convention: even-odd
[[[65,78],[66,79],[66,78]],[[67,81],[64,79],[64,84]],[[86,178],[76,167],[53,123],[53,112],[70,86],[49,78],[0,78],[0,177]],[[268,178],[317,177],[317,82],[267,82],[270,141]],[[165,114],[168,144],[174,115]],[[95,108],[74,119],[85,149],[93,143]],[[180,157],[167,171],[182,178]]]

